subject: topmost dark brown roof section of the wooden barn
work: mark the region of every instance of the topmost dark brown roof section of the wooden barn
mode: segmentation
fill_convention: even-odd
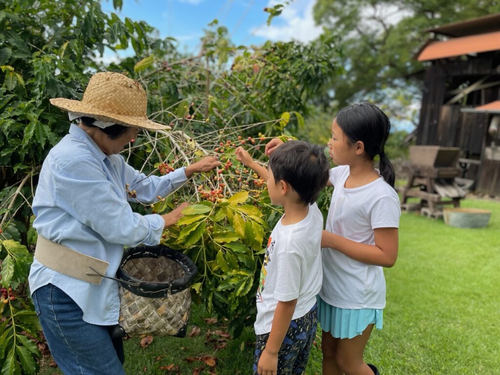
[[[500,13],[488,14],[482,17],[464,21],[446,23],[441,26],[427,28],[425,31],[448,36],[466,36],[500,30]]]

